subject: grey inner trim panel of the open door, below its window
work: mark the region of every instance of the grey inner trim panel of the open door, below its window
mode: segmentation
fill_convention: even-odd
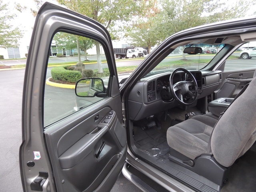
[[[56,182],[57,188],[61,191],[70,191],[70,186],[76,186],[78,191],[96,190],[113,166],[126,158],[126,148],[121,146],[120,138],[116,136],[118,132],[126,136],[126,131],[114,110],[104,103],[110,102],[98,103],[102,109],[92,110],[90,114],[83,114],[83,110],[74,114],[72,124],[75,126],[70,126],[70,119],[66,119],[44,132],[46,143],[50,143],[48,152],[55,179],[61,181]],[[109,112],[114,113],[111,115]],[[99,119],[95,121],[96,116]],[[106,121],[105,116],[111,116],[108,123],[102,123]]]

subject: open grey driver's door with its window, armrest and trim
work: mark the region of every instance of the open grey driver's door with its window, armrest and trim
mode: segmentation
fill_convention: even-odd
[[[107,75],[84,78],[76,90],[52,86],[50,77],[72,66],[52,68],[49,63],[57,59],[49,55],[75,57],[79,49],[86,55],[81,43],[87,40],[96,52],[100,50],[101,57],[105,54],[106,62],[96,58],[98,64],[86,66],[86,75],[88,68],[92,72],[100,64]],[[50,3],[38,11],[22,101],[24,191],[109,191],[114,185],[126,159],[127,139],[112,50],[110,35],[98,22]],[[81,73],[73,72],[78,81]],[[88,90],[80,91],[83,86],[90,89],[90,96]]]

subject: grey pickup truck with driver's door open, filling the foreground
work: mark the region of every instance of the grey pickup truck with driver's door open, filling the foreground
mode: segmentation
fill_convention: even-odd
[[[59,32],[98,41],[106,56],[97,77],[78,80],[75,91],[47,84],[49,48]],[[256,64],[226,60],[248,40],[256,40],[256,17],[178,32],[120,85],[106,28],[45,3],[24,76],[23,190],[106,192],[122,171],[142,191],[254,191]],[[198,56],[198,42],[221,44],[222,54]],[[169,57],[180,45],[189,46],[186,59]],[[86,65],[88,74],[94,66]]]

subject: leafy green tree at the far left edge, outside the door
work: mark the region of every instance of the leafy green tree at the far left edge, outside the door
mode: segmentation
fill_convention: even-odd
[[[8,12],[7,4],[0,0],[0,48],[11,48],[19,46],[19,39],[23,37],[23,32],[14,28],[10,22],[16,17]]]

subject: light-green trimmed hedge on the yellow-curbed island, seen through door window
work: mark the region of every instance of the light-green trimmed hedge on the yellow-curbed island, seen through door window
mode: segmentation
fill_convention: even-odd
[[[54,80],[68,81],[72,83],[76,83],[82,78],[82,74],[79,71],[67,70],[63,66],[52,68],[51,74]]]

